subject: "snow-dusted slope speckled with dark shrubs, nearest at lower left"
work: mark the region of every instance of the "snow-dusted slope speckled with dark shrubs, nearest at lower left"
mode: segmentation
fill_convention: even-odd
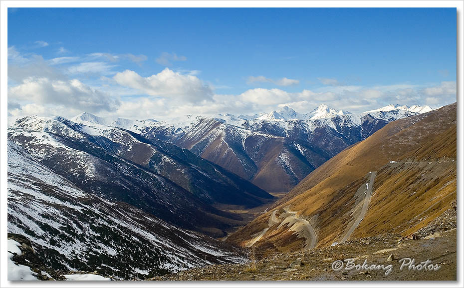
[[[92,196],[8,141],[8,233],[57,270],[145,278],[244,259],[223,242]]]

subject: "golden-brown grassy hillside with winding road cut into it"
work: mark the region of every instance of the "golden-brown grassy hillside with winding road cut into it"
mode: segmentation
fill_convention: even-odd
[[[340,152],[228,240],[245,245],[260,236],[258,249],[283,251],[305,247],[311,227],[316,247],[392,230],[410,234],[456,199],[455,161],[456,103],[391,122]],[[299,222],[288,222],[284,209]]]

